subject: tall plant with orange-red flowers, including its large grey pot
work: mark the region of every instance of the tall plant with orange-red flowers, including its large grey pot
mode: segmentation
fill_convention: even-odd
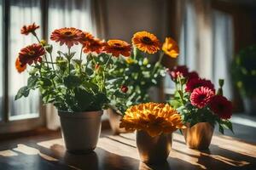
[[[21,29],[21,34],[32,34],[38,42],[22,48],[16,59],[16,69],[27,70],[29,78],[15,99],[39,89],[43,102],[58,109],[67,150],[74,153],[94,150],[101,131],[102,109],[109,103],[107,71],[119,54],[131,53],[131,45],[121,40],[114,44],[111,40],[103,42],[88,32],[65,27],[50,36],[52,41],[66,47],[54,54],[53,46],[38,38],[38,27],[32,24]],[[73,51],[75,45],[81,49]]]

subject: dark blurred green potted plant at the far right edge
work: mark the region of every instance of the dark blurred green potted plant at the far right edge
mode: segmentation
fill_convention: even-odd
[[[232,77],[243,99],[245,111],[256,114],[256,45],[241,49],[232,63]]]

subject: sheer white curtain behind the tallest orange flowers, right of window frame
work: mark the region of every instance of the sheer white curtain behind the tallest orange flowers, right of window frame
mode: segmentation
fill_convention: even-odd
[[[49,0],[49,16],[48,16],[48,35],[55,29],[61,27],[76,27],[83,31],[89,31],[96,35],[96,29],[92,26],[93,17],[91,11],[90,0]],[[58,47],[55,42],[51,42]],[[74,46],[72,51],[80,51],[80,46]],[[66,49],[64,46],[55,48],[57,50]],[[52,105],[47,105],[46,121],[49,129],[60,127],[57,111]]]

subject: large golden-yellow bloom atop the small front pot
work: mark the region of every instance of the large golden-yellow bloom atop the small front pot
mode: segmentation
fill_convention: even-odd
[[[121,120],[120,127],[126,130],[144,130],[154,137],[184,128],[180,115],[170,105],[146,103],[133,105]]]

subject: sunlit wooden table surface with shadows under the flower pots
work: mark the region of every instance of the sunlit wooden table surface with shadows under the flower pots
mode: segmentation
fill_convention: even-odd
[[[183,136],[173,134],[172,151],[166,164],[147,166],[139,161],[134,133],[113,136],[103,131],[95,152],[66,152],[61,134],[49,133],[0,142],[0,169],[256,169],[256,144],[214,135],[209,150],[190,150]]]

